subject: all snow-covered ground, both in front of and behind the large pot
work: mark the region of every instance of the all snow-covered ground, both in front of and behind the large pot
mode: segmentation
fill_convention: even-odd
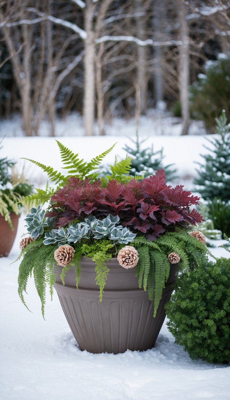
[[[69,122],[67,126],[71,124]],[[7,135],[3,143],[4,156],[15,160],[34,158],[60,167],[54,138],[14,136],[14,129],[16,134],[15,120],[2,124],[0,136]],[[123,130],[111,130],[111,134],[103,137],[68,138],[67,135],[74,132],[68,128],[59,140],[86,160],[118,141],[112,156],[107,156],[107,162],[111,163],[115,154],[125,156],[121,148],[128,141],[125,134],[130,134],[131,130],[129,126],[127,132],[123,127]],[[191,185],[196,174],[194,161],[201,161],[199,154],[206,152],[202,148],[204,136],[179,137],[176,133],[172,136],[169,131],[170,126],[167,135],[155,136],[147,128],[140,128],[139,133],[140,136],[151,136],[147,144],[153,143],[155,150],[163,146],[165,163],[174,163],[180,175],[179,182]],[[21,167],[23,161],[20,160]],[[25,165],[27,176],[36,184],[44,184],[39,169],[29,162]],[[0,400],[230,399],[230,368],[191,360],[181,346],[174,344],[165,324],[151,350],[118,355],[90,354],[77,347],[56,292],[52,303],[47,298],[46,321],[43,320],[32,280],[26,295],[30,313],[17,293],[19,262],[10,265],[18,257],[23,232],[21,217],[10,256],[0,258]],[[215,256],[228,256],[224,249],[212,248],[211,251]]]

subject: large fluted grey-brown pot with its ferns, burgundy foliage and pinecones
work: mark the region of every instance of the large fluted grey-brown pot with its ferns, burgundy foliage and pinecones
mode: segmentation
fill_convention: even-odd
[[[192,268],[208,252],[200,232],[188,233],[202,220],[190,209],[198,198],[167,186],[163,170],[129,176],[129,158],[100,178],[95,170],[113,147],[84,162],[57,144],[67,176],[30,160],[57,188],[26,198],[38,207],[26,217],[30,236],[20,243],[19,296],[26,305],[33,272],[43,316],[48,283],[82,350],[147,350],[165,319],[178,262],[181,270]]]

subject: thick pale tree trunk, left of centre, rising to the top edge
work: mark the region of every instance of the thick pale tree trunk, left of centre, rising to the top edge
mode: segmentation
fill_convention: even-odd
[[[85,31],[87,38],[85,39],[85,56],[84,56],[84,99],[83,99],[83,115],[85,124],[85,135],[93,135],[94,123],[94,104],[95,104],[95,34],[93,32],[93,10],[94,5],[91,0],[87,1],[85,7]]]

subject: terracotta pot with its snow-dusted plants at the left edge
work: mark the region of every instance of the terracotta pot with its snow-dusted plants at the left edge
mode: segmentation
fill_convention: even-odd
[[[32,192],[23,172],[18,174],[14,166],[12,160],[0,158],[0,257],[8,256],[13,246],[22,200]]]

